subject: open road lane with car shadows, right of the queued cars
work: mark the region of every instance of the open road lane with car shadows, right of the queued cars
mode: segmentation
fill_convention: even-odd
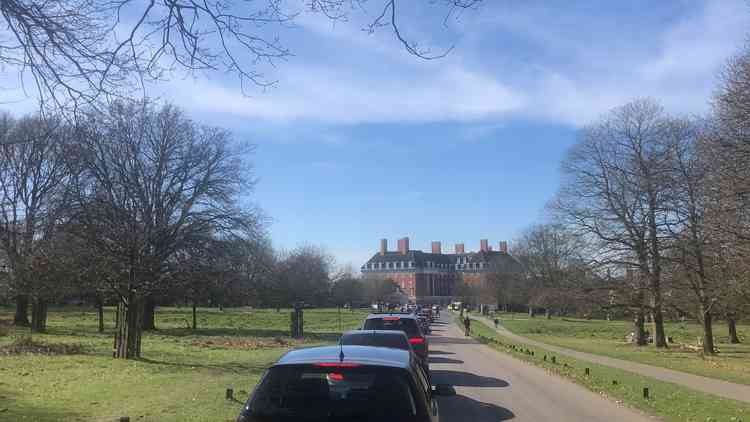
[[[464,337],[443,314],[430,337],[432,381],[455,387],[440,397],[442,422],[651,421],[572,382]]]

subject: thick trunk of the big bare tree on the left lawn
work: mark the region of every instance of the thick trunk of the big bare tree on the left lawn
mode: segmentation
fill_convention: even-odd
[[[141,335],[143,333],[143,301],[134,292],[128,294],[127,301],[117,304],[119,327],[115,332],[112,357],[116,359],[137,359],[141,357]]]

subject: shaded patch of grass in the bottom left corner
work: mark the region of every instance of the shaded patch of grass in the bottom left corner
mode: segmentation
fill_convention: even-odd
[[[46,400],[29,402],[24,396],[0,385],[0,420],[2,421],[58,422],[83,419],[84,415],[76,412],[50,407]]]

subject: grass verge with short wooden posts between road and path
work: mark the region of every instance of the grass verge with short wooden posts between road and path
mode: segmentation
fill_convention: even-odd
[[[543,367],[591,391],[624,402],[667,422],[750,421],[750,405],[746,403],[569,357],[556,356],[557,362],[553,364],[552,354],[549,352],[509,341],[482,323],[472,324],[472,331],[475,337],[493,348]],[[527,350],[533,351],[534,355],[527,353]],[[548,356],[546,361],[545,353]],[[585,368],[589,368],[590,375],[585,375]],[[617,381],[617,385],[613,385],[613,380]],[[649,388],[649,399],[643,398],[644,387]]]

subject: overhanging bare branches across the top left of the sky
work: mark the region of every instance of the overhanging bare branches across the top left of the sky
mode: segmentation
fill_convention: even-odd
[[[446,21],[481,0],[442,0]],[[223,71],[248,85],[274,83],[263,69],[292,52],[280,33],[301,13],[344,21],[373,13],[366,30],[389,28],[406,51],[423,59],[439,53],[410,41],[397,0],[4,0],[0,64],[28,74],[42,102],[80,106],[102,96],[144,89],[176,71]]]

